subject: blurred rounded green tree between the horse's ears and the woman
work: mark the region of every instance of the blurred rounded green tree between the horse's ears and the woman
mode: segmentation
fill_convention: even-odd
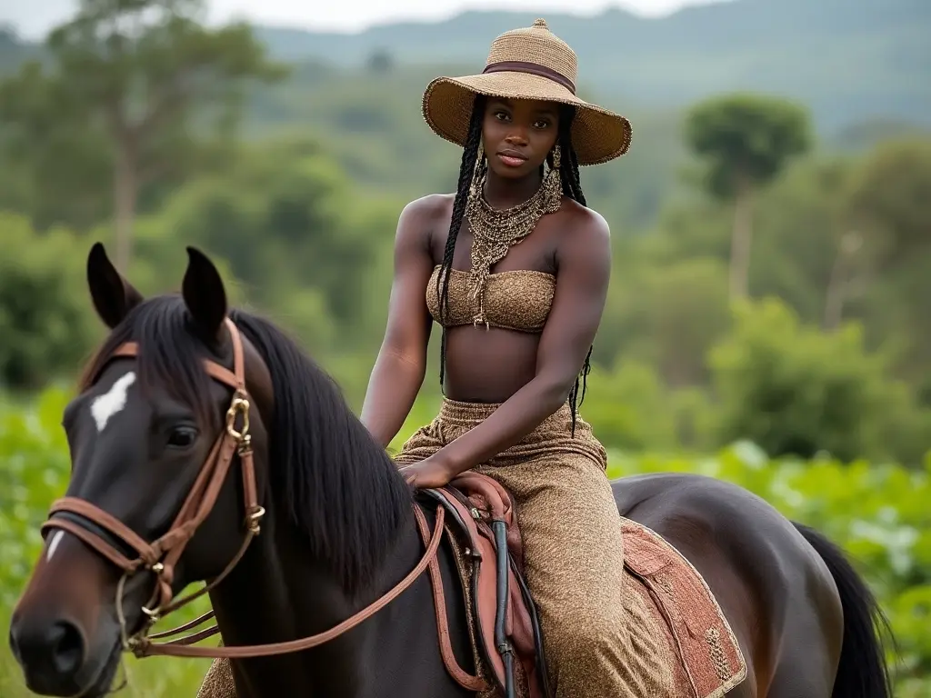
[[[229,171],[172,195],[146,254],[201,246],[228,261],[250,302],[279,317],[308,348],[326,349],[337,331],[358,343],[384,322],[384,303],[374,313],[363,309],[390,285],[390,276],[378,274],[378,288],[370,280],[380,259],[390,261],[403,203],[359,205],[350,191],[316,140],[263,141],[242,148]]]

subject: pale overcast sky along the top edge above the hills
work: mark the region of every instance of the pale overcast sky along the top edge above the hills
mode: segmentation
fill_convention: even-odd
[[[248,18],[307,29],[363,29],[385,20],[436,20],[466,8],[527,10],[533,13],[598,12],[625,7],[642,15],[657,16],[685,5],[708,0],[208,0],[211,20]],[[0,22],[12,23],[21,35],[37,38],[66,19],[77,0],[0,0]]]

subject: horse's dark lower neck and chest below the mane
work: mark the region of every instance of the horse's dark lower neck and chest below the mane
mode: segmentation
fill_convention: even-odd
[[[271,503],[266,509],[261,535],[253,539],[236,570],[210,595],[227,646],[281,642],[330,630],[385,594],[422,554],[412,520],[400,533],[396,550],[386,557],[378,581],[354,600],[329,570],[312,559],[283,507]],[[429,592],[425,601],[431,601]],[[371,656],[363,659],[363,655],[377,652],[381,640],[372,642],[373,635],[390,632],[376,614],[351,633],[313,651],[240,665],[237,674],[246,686],[240,687],[238,698],[363,695],[361,668],[363,663],[371,663]]]

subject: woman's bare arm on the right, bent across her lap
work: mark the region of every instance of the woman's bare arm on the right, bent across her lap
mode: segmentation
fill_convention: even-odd
[[[568,399],[595,339],[611,277],[611,233],[594,211],[560,241],[556,294],[540,337],[536,374],[484,422],[429,459],[455,477],[509,449]]]

